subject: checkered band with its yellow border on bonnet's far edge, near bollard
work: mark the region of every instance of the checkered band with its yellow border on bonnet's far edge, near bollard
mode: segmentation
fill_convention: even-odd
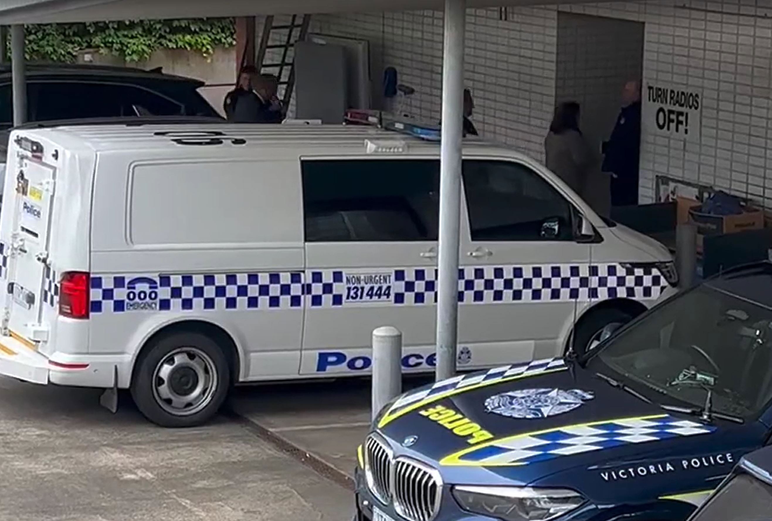
[[[474,391],[481,387],[501,384],[503,382],[520,380],[520,378],[536,376],[537,374],[557,373],[557,371],[566,370],[568,367],[562,358],[547,358],[544,360],[533,360],[528,364],[513,364],[503,367],[495,367],[485,373],[462,374],[452,377],[448,380],[438,381],[431,387],[420,391],[413,391],[404,394],[394,405],[384,414],[381,421],[378,421],[378,428],[384,428],[391,421],[415,411],[427,404],[454,396],[455,394]]]

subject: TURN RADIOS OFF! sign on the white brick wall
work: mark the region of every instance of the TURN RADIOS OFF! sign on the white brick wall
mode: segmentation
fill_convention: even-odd
[[[643,98],[648,105],[650,130],[672,137],[699,136],[702,94],[696,90],[648,83]]]

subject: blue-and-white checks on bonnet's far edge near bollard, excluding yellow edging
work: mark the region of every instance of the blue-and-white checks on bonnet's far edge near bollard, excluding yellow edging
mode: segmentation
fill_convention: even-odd
[[[566,363],[562,358],[545,358],[543,360],[532,360],[527,364],[512,364],[501,367],[494,367],[484,372],[461,374],[447,380],[438,381],[429,387],[405,394],[391,406],[389,414],[394,414],[402,408],[408,408],[412,404],[438,397],[445,394],[472,385],[486,384],[493,385],[499,381],[513,377],[527,377],[534,374],[540,374],[547,370],[565,369]]]

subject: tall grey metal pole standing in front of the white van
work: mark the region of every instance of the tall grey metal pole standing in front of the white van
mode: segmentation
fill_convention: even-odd
[[[437,380],[455,374],[459,318],[459,213],[464,98],[465,0],[445,0],[442,56],[442,143],[439,184]]]

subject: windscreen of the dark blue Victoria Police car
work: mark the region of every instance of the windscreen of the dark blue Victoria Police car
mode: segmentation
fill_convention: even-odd
[[[652,401],[702,408],[711,391],[713,411],[755,418],[772,398],[770,353],[772,310],[703,285],[620,331],[588,367]]]

